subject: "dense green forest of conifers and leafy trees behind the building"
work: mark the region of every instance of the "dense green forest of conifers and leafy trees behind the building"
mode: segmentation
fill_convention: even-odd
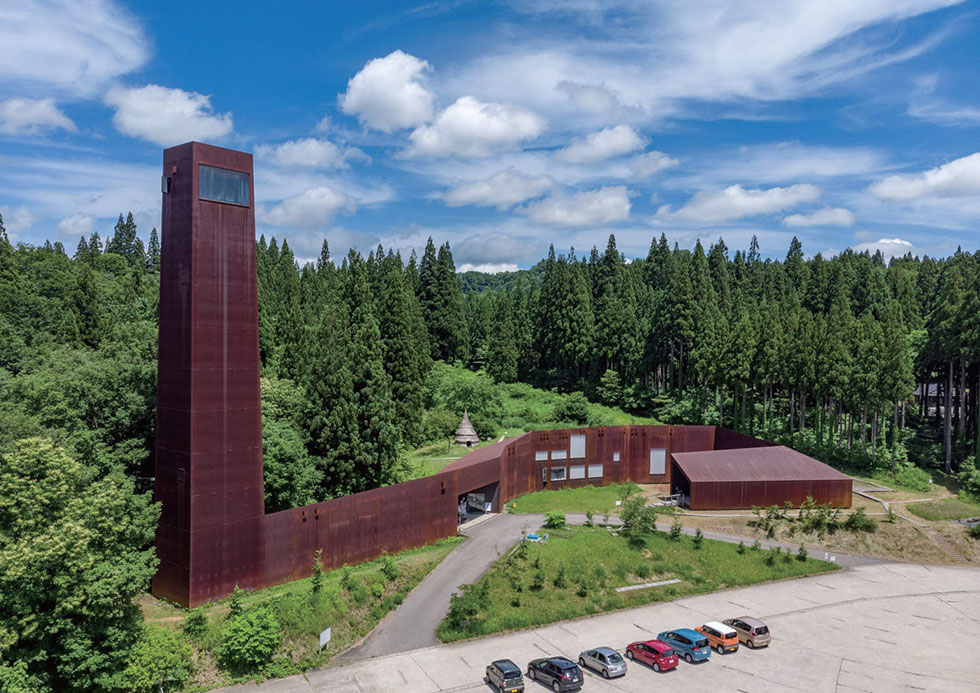
[[[15,246],[0,220],[0,689],[133,685],[159,512],[159,267],[132,215],[73,252]],[[407,261],[379,246],[338,262],[324,242],[301,266],[263,237],[257,269],[267,512],[406,478],[406,450],[462,414],[433,404],[439,361],[980,495],[980,252],[807,258],[794,238],[776,261],[754,239],[661,236],[628,261],[610,237],[487,275],[431,240]],[[565,407],[553,425],[601,423]]]

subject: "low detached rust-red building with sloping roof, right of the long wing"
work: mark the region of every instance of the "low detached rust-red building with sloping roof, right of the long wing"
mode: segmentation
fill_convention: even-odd
[[[851,478],[782,445],[675,452],[671,490],[692,510],[783,505],[807,498],[851,507]]]

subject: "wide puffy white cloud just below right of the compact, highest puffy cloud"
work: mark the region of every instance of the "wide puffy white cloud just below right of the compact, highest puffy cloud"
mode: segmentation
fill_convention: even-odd
[[[541,134],[545,122],[521,106],[484,103],[462,96],[442,111],[431,125],[412,131],[410,154],[432,157],[490,156]]]

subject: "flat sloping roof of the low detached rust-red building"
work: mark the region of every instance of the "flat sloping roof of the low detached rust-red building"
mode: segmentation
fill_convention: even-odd
[[[691,482],[837,481],[850,478],[785,445],[675,452],[671,457]]]

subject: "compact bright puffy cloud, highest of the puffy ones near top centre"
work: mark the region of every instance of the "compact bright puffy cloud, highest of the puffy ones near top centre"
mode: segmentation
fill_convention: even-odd
[[[430,69],[425,60],[402,51],[369,60],[338,97],[340,110],[384,132],[427,123],[435,103],[435,95],[424,85]]]

